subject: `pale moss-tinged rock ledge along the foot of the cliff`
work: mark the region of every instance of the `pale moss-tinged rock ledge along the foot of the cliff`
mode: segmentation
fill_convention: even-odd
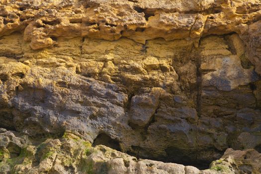
[[[239,174],[261,172],[261,154],[254,149],[227,149],[208,170],[137,159],[66,132],[63,138],[31,142],[27,136],[0,129],[0,172],[3,174]],[[14,154],[14,155],[13,155]],[[8,159],[9,158],[9,159]]]

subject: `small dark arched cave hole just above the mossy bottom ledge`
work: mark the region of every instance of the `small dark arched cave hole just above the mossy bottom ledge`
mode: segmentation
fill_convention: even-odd
[[[111,149],[115,149],[120,151],[120,143],[119,141],[110,138],[107,134],[101,133],[99,134],[93,141],[93,146],[104,145]]]

